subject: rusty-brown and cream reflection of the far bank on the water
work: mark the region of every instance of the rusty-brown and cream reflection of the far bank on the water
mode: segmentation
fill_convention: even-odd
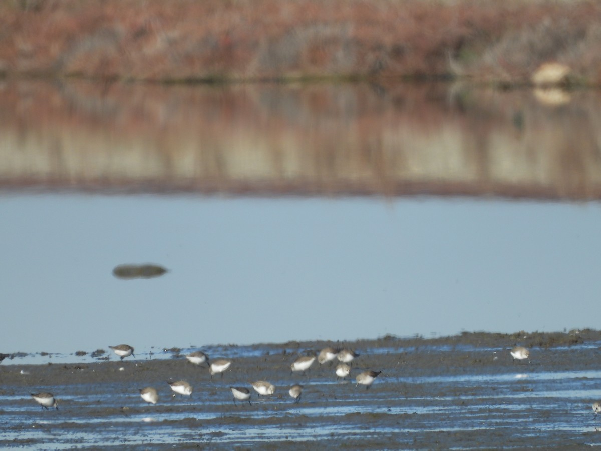
[[[373,86],[9,83],[0,104],[18,114],[0,124],[0,179],[132,192],[601,198],[598,91]]]

